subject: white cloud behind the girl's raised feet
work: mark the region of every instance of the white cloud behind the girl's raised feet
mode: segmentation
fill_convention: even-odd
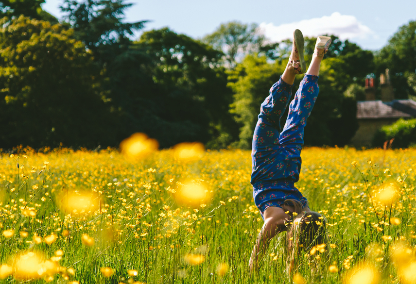
[[[377,38],[375,33],[369,27],[360,23],[356,17],[341,15],[338,12],[332,13],[331,16],[301,20],[280,26],[263,22],[260,24],[260,29],[273,42],[292,38],[295,29],[301,30],[303,36],[334,34],[341,40]]]

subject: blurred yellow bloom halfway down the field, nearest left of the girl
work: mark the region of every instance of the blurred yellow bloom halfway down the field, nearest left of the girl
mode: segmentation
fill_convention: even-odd
[[[199,205],[209,199],[209,192],[202,182],[191,181],[179,185],[175,199],[181,204]]]

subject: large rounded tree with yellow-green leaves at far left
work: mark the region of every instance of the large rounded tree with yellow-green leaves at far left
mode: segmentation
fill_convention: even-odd
[[[0,25],[2,147],[110,143],[99,70],[72,31],[23,16]]]

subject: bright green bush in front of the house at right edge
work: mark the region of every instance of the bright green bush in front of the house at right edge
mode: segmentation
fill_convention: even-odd
[[[407,148],[416,141],[416,118],[405,120],[400,118],[391,125],[381,127],[373,139],[373,146],[382,147],[387,140],[394,138],[393,148]]]

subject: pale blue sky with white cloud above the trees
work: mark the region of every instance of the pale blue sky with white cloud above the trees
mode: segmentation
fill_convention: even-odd
[[[304,36],[335,34],[363,49],[379,50],[399,27],[416,20],[416,0],[126,0],[125,21],[149,20],[141,31],[169,27],[176,33],[202,38],[221,24],[237,20],[257,23],[277,42],[295,29]],[[62,0],[46,0],[42,7],[63,17]],[[137,33],[139,37],[140,32]]]

